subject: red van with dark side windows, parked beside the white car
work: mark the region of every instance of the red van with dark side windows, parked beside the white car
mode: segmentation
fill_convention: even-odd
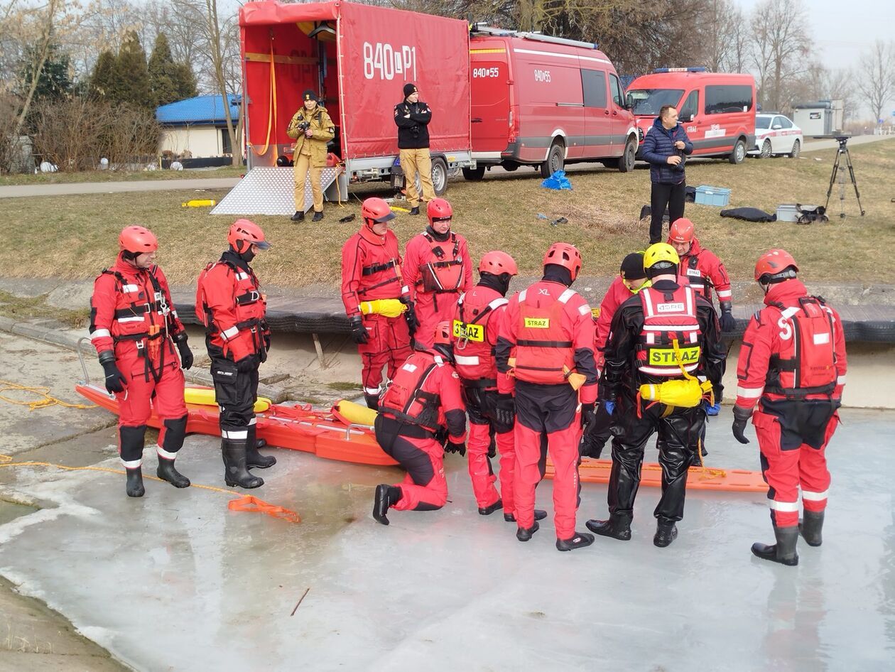
[[[755,80],[751,74],[660,68],[627,87],[639,140],[662,106],[678,108],[678,121],[693,141],[694,157],[727,157],[742,163],[755,144]],[[640,158],[638,156],[638,158]]]

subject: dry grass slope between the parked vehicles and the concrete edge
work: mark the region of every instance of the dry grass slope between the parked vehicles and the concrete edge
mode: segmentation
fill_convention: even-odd
[[[724,259],[734,279],[752,276],[754,259],[771,247],[783,247],[799,261],[808,280],[893,283],[891,250],[895,249],[895,140],[851,149],[866,217],[857,217],[854,192],[846,192],[848,217],[840,219],[839,191],[831,200],[833,219],[826,225],[754,224],[719,217],[720,208],[687,204],[703,244]],[[802,158],[748,159],[741,166],[710,161],[687,166],[690,184],[729,187],[731,207],[753,206],[769,212],[780,203],[823,204],[834,150],[805,153]],[[820,159],[820,160],[817,160]],[[647,242],[646,222],[637,220],[649,201],[649,171],[633,174],[609,169],[569,173],[574,191],[549,191],[530,169],[489,175],[481,183],[452,182],[447,196],[455,208],[456,230],[469,242],[473,258],[492,249],[516,257],[524,275],[534,275],[550,242],[577,245],[587,276],[612,276],[618,262]],[[848,185],[850,187],[850,184]],[[378,190],[378,191],[377,191]],[[388,195],[386,187],[364,187]],[[232,219],[209,217],[208,210],[181,208],[192,191],[4,200],[0,222],[0,268],[4,276],[96,276],[115,257],[118,231],[129,224],[148,225],[161,240],[159,262],[173,283],[194,281],[209,260],[225,247]],[[223,191],[207,191],[220,198]],[[340,224],[338,218],[358,217]],[[542,213],[548,219],[540,219]],[[567,224],[550,220],[567,217]],[[360,202],[344,208],[328,205],[322,225],[301,225],[287,217],[257,217],[273,243],[256,268],[267,284],[337,285],[342,243],[357,230]],[[422,231],[424,217],[400,215],[398,239]]]

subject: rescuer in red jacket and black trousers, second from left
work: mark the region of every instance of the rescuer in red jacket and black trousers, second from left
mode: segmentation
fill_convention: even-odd
[[[267,298],[249,263],[270,243],[261,227],[237,219],[227,234],[230,247],[200,273],[196,315],[205,324],[205,345],[211,358],[211,378],[220,410],[221,456],[224,481],[229,486],[259,488],[264,480],[249,472],[277,464],[261,455],[257,438],[255,402],[258,369],[267,361],[270,329],[265,315]]]

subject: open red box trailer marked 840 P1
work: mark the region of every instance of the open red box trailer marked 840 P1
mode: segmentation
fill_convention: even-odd
[[[348,2],[251,2],[239,25],[250,168],[290,153],[286,126],[313,89],[337,124],[334,149],[351,180],[388,179],[398,154],[394,106],[407,82],[432,109],[436,191],[449,169],[474,166],[465,21]]]

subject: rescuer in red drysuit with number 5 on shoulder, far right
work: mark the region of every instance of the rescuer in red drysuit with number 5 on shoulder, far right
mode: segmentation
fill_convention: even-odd
[[[798,564],[799,530],[810,546],[821,545],[830,487],[824,451],[839,424],[847,370],[839,315],[808,295],[797,271],[795,259],[783,250],[765,252],[755,264],[765,307],[755,312],[743,336],[733,407],[733,434],[740,443],[749,442],[743,430],[752,417],[777,539],[772,545],[753,544],[752,552],[783,565]]]

